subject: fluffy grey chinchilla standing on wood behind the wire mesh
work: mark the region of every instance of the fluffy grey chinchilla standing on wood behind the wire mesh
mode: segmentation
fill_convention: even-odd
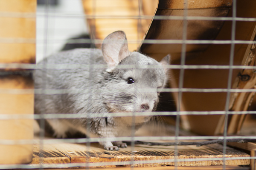
[[[122,141],[110,139],[129,136],[133,125],[137,129],[152,118],[153,114],[132,117],[123,113],[155,111],[159,102],[157,89],[166,85],[168,69],[165,66],[169,61],[169,55],[157,62],[138,52],[130,52],[123,31],[108,35],[102,50],[77,48],[59,52],[39,62],[38,66],[58,64],[71,68],[35,69],[35,89],[71,92],[35,94],[35,113],[87,113],[87,118],[47,119],[46,123],[58,138],[80,132],[90,137],[108,138],[100,142],[106,150],[127,147]],[[73,65],[81,67],[72,68]],[[97,68],[97,65],[106,66]],[[134,67],[129,68],[129,65]],[[77,90],[81,92],[72,92]],[[95,113],[103,116],[93,116]],[[122,113],[122,116],[109,116],[111,113]]]

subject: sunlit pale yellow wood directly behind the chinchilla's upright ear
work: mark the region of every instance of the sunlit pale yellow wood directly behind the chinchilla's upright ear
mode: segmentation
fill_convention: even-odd
[[[141,26],[140,20],[129,18],[140,15],[137,0],[83,0],[83,5],[87,15],[107,16],[103,19],[87,19],[94,38],[104,40],[108,34],[122,30],[125,31],[129,50],[135,51],[137,49],[138,43],[131,43],[131,41],[140,40],[145,34],[143,29],[139,28]]]

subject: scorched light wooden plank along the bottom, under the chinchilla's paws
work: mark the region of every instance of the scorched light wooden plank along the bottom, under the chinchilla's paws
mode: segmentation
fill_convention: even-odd
[[[37,146],[35,146],[37,147]],[[35,148],[34,147],[34,148]],[[52,144],[45,145],[44,151],[44,163],[97,163],[97,162],[120,162],[131,161],[131,154],[134,154],[134,160],[174,160],[175,147],[162,147],[162,146],[143,146],[136,145],[134,150],[131,152],[131,147],[121,148],[119,151],[109,151],[106,154],[101,146],[98,144],[92,144],[88,151],[86,144]],[[51,149],[52,148],[52,149]],[[220,144],[212,144],[209,146],[179,146],[178,147],[178,158],[179,159],[200,159],[200,158],[222,158],[223,147]],[[37,152],[38,154],[38,152]],[[45,156],[46,155],[46,156]],[[66,156],[64,156],[66,155]],[[35,156],[35,153],[34,153]],[[55,156],[55,157],[54,157]],[[226,165],[245,165],[250,164],[249,159],[239,159],[239,157],[249,157],[248,154],[233,148],[227,147],[226,152],[227,158],[237,157],[236,160],[227,160]],[[32,164],[38,164],[39,157],[33,158]],[[175,162],[163,162],[163,163],[147,163],[147,164],[135,164],[135,167],[152,167],[171,165],[174,166]],[[222,160],[202,160],[202,161],[178,161],[177,166],[210,166],[210,165],[223,165]],[[113,164],[112,167],[115,165]],[[130,166],[129,164],[125,166]],[[93,166],[94,167],[94,166]],[[102,166],[104,167],[104,166]],[[109,166],[107,166],[109,167]]]

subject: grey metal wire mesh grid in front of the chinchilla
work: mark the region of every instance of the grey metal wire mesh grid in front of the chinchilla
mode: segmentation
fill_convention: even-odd
[[[15,165],[0,165],[0,169],[15,169],[15,168],[22,168],[22,169],[33,169],[33,168],[64,168],[64,167],[96,167],[96,166],[106,166],[106,165],[131,165],[131,169],[136,164],[153,164],[153,163],[165,163],[165,162],[175,162],[175,166],[177,167],[177,162],[183,161],[223,161],[224,162],[224,169],[226,168],[225,161],[227,160],[236,160],[236,159],[256,159],[256,157],[239,157],[239,158],[230,158],[226,157],[227,153],[227,139],[256,139],[256,136],[228,136],[228,116],[230,115],[238,115],[238,114],[256,114],[256,111],[230,111],[230,95],[231,93],[243,93],[243,92],[256,92],[256,89],[236,89],[232,88],[232,74],[233,70],[235,69],[251,69],[252,71],[256,70],[256,66],[252,65],[234,65],[234,56],[235,56],[235,45],[237,44],[248,44],[248,45],[255,45],[256,41],[254,40],[236,40],[236,22],[256,22],[256,18],[246,18],[246,17],[237,17],[236,14],[236,4],[237,1],[233,0],[232,4],[232,17],[199,17],[199,16],[188,16],[188,0],[184,0],[184,14],[183,16],[149,16],[142,14],[142,5],[143,2],[138,0],[139,4],[139,14],[136,16],[112,16],[112,15],[96,15],[96,3],[93,1],[93,14],[92,15],[85,15],[85,14],[66,14],[66,13],[51,13],[49,11],[49,4],[51,0],[46,0],[46,4],[44,7],[44,12],[39,12],[36,14],[30,13],[12,13],[12,12],[0,12],[0,17],[17,17],[17,18],[34,18],[34,17],[44,17],[44,51],[43,56],[46,57],[44,61],[47,61],[48,56],[48,48],[51,45],[58,44],[63,42],[63,40],[54,39],[51,40],[49,36],[49,28],[51,28],[49,23],[50,17],[55,17],[56,20],[58,18],[69,17],[69,18],[81,18],[81,19],[90,19],[92,22],[96,22],[96,19],[135,19],[138,21],[138,32],[141,31],[142,23],[141,20],[183,20],[183,35],[182,40],[156,40],[156,39],[141,39],[140,36],[137,37],[137,40],[128,40],[130,44],[139,44],[143,41],[143,44],[181,44],[181,57],[180,57],[180,64],[179,65],[167,65],[166,68],[168,69],[179,69],[179,80],[178,80],[178,87],[177,88],[163,88],[157,89],[157,92],[177,92],[178,93],[178,100],[177,100],[177,111],[157,111],[157,112],[116,112],[116,113],[47,113],[44,110],[47,107],[47,102],[44,101],[41,103],[41,114],[0,114],[0,120],[11,120],[11,119],[36,119],[40,121],[41,131],[40,131],[40,139],[34,140],[6,140],[0,139],[0,144],[3,145],[16,145],[16,144],[39,144],[40,149],[44,150],[44,144],[59,144],[59,143],[86,143],[87,150],[90,150],[91,142],[105,142],[105,141],[131,141],[131,160],[130,161],[119,161],[119,162],[97,162],[91,163],[89,161],[89,157],[86,158],[87,161],[85,163],[72,163],[72,164],[44,164],[43,163],[43,155],[40,155],[40,164],[15,164]],[[231,39],[230,40],[187,40],[187,26],[188,21],[190,20],[214,20],[214,21],[231,21],[232,22],[232,30],[230,32]],[[90,30],[91,39],[79,39],[79,40],[68,40],[67,43],[69,44],[76,44],[76,43],[92,43],[91,46],[94,44],[101,44],[103,40],[96,39],[96,30]],[[140,33],[141,34],[141,33]],[[139,33],[138,33],[139,35]],[[29,38],[0,38],[0,43],[35,43],[35,40]],[[188,44],[219,44],[219,45],[230,45],[230,62],[229,65],[186,65],[186,45]],[[94,56],[94,49],[91,49],[90,59],[93,60]],[[48,70],[68,70],[68,69],[89,69],[90,77],[93,77],[91,70],[93,69],[102,69],[106,68],[107,65],[85,65],[85,64],[47,64],[46,62],[43,65],[35,65],[35,64],[23,64],[23,63],[0,63],[0,69],[38,69],[42,70],[43,78],[42,81],[43,88],[41,89],[0,89],[0,93],[8,93],[8,94],[42,94],[42,95],[59,95],[59,94],[90,94],[89,100],[91,99],[92,89],[93,87],[89,88],[79,88],[79,89],[47,89],[47,71]],[[145,67],[138,66],[138,65],[120,65],[117,66],[117,69],[155,69],[157,66],[147,65]],[[183,85],[184,79],[184,71],[189,69],[216,69],[221,70],[225,69],[229,72],[228,79],[227,79],[227,88],[185,88]],[[255,71],[254,71],[255,72]],[[1,74],[4,74],[1,72]],[[138,92],[149,92],[154,89],[150,88],[136,88]],[[102,92],[101,89],[97,89],[99,93]],[[181,103],[183,101],[183,93],[185,92],[195,92],[195,93],[226,93],[226,101],[225,101],[225,108],[224,111],[182,111]],[[92,99],[91,99],[92,100]],[[135,117],[136,116],[176,116],[176,125],[175,125],[175,135],[174,136],[135,136]],[[224,133],[222,136],[180,136],[180,116],[182,115],[224,115]],[[105,118],[105,117],[122,117],[122,116],[132,116],[132,126],[131,126],[131,136],[129,137],[90,137],[90,134],[86,134],[86,138],[79,138],[79,139],[45,139],[45,119],[82,119],[87,118]],[[87,132],[90,131],[90,124],[87,122]],[[175,145],[174,150],[174,158],[175,159],[164,159],[164,160],[135,160],[134,159],[134,150],[135,144],[134,141],[137,140],[144,140],[144,141],[151,141],[151,140],[174,140],[178,143],[180,140],[212,140],[212,139],[224,139],[223,142],[223,157],[221,158],[191,158],[191,159],[177,159],[178,157],[178,145]]]

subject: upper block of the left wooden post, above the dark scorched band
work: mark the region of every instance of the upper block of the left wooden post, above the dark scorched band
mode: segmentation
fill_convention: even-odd
[[[0,0],[0,62],[35,63],[35,11],[36,0]]]

